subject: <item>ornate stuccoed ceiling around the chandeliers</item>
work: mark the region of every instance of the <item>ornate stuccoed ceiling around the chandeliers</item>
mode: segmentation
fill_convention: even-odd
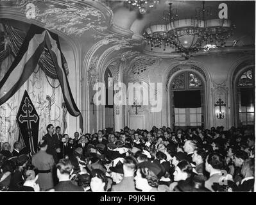
[[[35,4],[35,19],[26,19],[26,23],[40,24],[42,27],[58,31],[81,42],[81,45],[92,46],[99,40],[110,38],[123,47],[134,47],[135,51],[143,51],[149,55],[169,56],[171,49],[154,49],[142,43],[144,29],[154,24],[164,24],[162,15],[168,3],[178,9],[178,16],[183,19],[194,15],[201,1],[166,1],[141,15],[138,10],[130,8],[126,1],[85,1],[85,0],[20,0],[0,1],[0,18],[26,19],[28,3]],[[234,37],[230,37],[226,46],[234,40],[237,45],[254,45],[255,3],[253,1],[206,1],[212,7],[212,18],[218,18],[219,3],[228,5],[228,19],[236,25]],[[16,11],[16,12],[15,12]],[[16,17],[14,17],[17,15]],[[19,19],[19,15],[20,18]],[[2,19],[3,21],[3,19]],[[11,21],[10,21],[11,22]],[[17,24],[17,28],[28,29],[27,24]],[[108,44],[108,42],[106,42]]]

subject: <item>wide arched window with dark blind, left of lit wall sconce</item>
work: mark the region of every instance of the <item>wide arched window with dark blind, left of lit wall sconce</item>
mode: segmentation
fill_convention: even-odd
[[[204,127],[205,85],[196,72],[177,74],[171,81],[170,96],[173,129]]]

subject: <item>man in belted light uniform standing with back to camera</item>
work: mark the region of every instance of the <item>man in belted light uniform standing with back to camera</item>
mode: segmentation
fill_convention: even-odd
[[[40,149],[37,154],[32,156],[32,165],[37,168],[38,184],[42,191],[53,188],[53,168],[55,160],[51,154],[47,154],[47,141],[40,140],[38,148]]]

